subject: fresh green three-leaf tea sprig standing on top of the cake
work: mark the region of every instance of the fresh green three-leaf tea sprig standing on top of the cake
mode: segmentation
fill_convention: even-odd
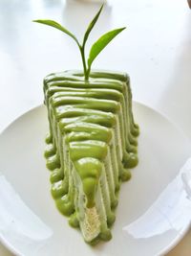
[[[90,53],[89,53],[89,58],[86,62],[86,58],[85,58],[85,45],[87,42],[87,39],[91,33],[91,31],[93,30],[93,28],[96,25],[96,21],[103,9],[102,5],[99,9],[99,11],[96,13],[96,16],[94,17],[94,19],[91,21],[90,25],[88,26],[86,33],[83,37],[83,42],[82,44],[79,43],[78,39],[76,38],[76,36],[71,33],[70,31],[68,31],[66,28],[64,28],[62,25],[60,25],[59,23],[57,23],[54,20],[51,19],[36,19],[33,20],[33,22],[37,22],[37,23],[41,23],[44,25],[48,25],[51,26],[59,31],[62,31],[63,33],[65,33],[66,35],[69,35],[70,37],[72,37],[74,39],[74,41],[76,42],[80,54],[81,54],[81,58],[82,58],[82,63],[83,63],[83,70],[84,70],[84,78],[85,81],[89,80],[90,77],[90,72],[91,72],[91,67],[92,67],[92,63],[95,60],[95,58],[99,55],[99,53],[110,43],[110,41],[112,41],[120,32],[122,32],[124,28],[119,28],[116,30],[112,30],[104,35],[101,35],[96,42],[93,44]]]

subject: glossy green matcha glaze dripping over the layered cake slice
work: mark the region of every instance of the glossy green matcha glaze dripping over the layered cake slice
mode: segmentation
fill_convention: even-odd
[[[44,80],[45,105],[48,108],[50,134],[46,138],[47,167],[51,170],[52,195],[58,210],[70,216],[72,226],[79,226],[74,180],[80,180],[87,209],[96,205],[96,190],[107,183],[106,216],[93,242],[109,240],[108,227],[115,221],[114,209],[121,181],[131,176],[129,169],[138,164],[138,125],[132,114],[129,77],[123,73],[92,71],[89,81],[82,72],[65,71]],[[111,159],[108,158],[110,155]],[[109,159],[112,166],[106,166]],[[75,171],[71,171],[75,170]],[[71,178],[71,172],[74,178]],[[101,183],[101,182],[100,182]],[[79,194],[79,192],[77,192]],[[108,203],[106,203],[108,204]],[[88,242],[88,241],[87,241]]]

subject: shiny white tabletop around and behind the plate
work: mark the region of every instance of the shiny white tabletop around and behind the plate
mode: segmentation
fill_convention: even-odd
[[[71,38],[32,19],[55,19],[81,38],[99,6],[100,2],[73,0],[0,1],[0,129],[43,102],[44,76],[82,67]],[[127,30],[100,54],[94,68],[127,71],[134,100],[163,113],[191,139],[191,11],[187,1],[108,1],[90,44],[124,25]],[[190,241],[191,231],[168,256],[190,256]],[[12,254],[0,244],[0,255]]]

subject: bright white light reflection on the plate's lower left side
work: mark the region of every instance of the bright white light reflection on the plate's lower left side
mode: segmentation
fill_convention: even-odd
[[[38,250],[52,235],[52,229],[41,221],[0,174],[0,237],[18,254],[20,245],[25,251]]]

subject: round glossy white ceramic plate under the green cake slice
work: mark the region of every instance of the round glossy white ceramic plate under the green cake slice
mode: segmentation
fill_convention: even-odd
[[[155,110],[135,104],[134,112],[140,127],[139,164],[132,179],[121,186],[113,239],[95,247],[85,244],[80,232],[69,226],[50,195],[50,174],[43,157],[48,131],[45,107],[32,109],[4,130],[0,136],[0,238],[12,252],[154,256],[178,243],[191,216],[186,194],[190,187],[179,175],[191,145]],[[184,174],[184,179],[189,181],[189,175]]]

